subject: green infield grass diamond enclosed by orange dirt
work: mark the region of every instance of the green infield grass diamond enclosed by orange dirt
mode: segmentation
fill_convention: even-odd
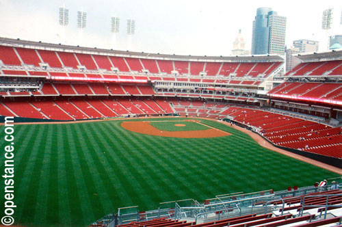
[[[198,124],[197,122],[188,122],[188,121],[152,121],[150,122],[152,126],[159,129],[160,131],[199,131],[199,130],[207,130],[210,129],[208,126],[203,124]],[[176,126],[174,124],[183,124],[185,126]]]

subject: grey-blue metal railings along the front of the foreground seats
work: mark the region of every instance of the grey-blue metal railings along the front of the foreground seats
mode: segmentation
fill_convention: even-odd
[[[103,217],[102,220],[108,220],[109,225],[116,226],[118,224],[127,224],[129,222],[143,222],[155,218],[168,217],[170,219],[198,219],[202,221],[217,220],[222,218],[237,217],[252,213],[265,214],[272,211],[281,211],[283,215],[285,208],[285,197],[301,198],[302,208],[299,215],[303,215],[303,211],[308,207],[322,207],[324,209],[324,219],[331,207],[342,207],[340,204],[330,204],[332,196],[342,196],[342,194],[322,194],[308,195],[318,191],[328,190],[326,187],[300,187],[296,190],[283,191],[258,191],[253,193],[233,193],[215,196],[204,203],[199,203],[193,199],[177,200],[170,202],[161,202],[159,208],[152,211],[140,212],[138,206],[129,206],[118,209],[117,214],[111,214]],[[326,198],[324,205],[305,204],[308,198]],[[336,198],[336,197],[335,197]],[[322,211],[322,210],[321,210]],[[323,212],[321,212],[322,214]],[[321,216],[321,215],[320,215]]]

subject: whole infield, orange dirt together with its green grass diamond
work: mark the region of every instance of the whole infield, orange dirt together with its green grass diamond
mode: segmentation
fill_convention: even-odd
[[[202,124],[199,120],[125,121],[122,128],[135,133],[179,138],[209,138],[231,135],[225,131]]]

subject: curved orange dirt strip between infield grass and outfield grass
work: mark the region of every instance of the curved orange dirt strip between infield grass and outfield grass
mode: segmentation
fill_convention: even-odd
[[[163,137],[179,137],[179,138],[209,138],[209,137],[221,137],[231,135],[225,131],[218,129],[207,129],[198,131],[160,131],[154,126],[150,125],[150,122],[122,122],[122,128],[135,133],[142,133],[147,135],[157,135]]]

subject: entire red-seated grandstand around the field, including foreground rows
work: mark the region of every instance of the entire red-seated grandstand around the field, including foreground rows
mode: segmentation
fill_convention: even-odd
[[[300,55],[302,63],[282,75],[284,62],[278,55],[161,55],[1,38],[0,116],[70,122],[137,116],[212,118],[244,126],[278,148],[341,168],[341,53]],[[107,226],[113,220],[122,227],[341,223],[341,215],[334,215],[341,212],[341,191],[320,190],[295,187],[216,196],[203,204],[178,201],[158,211],[134,208],[111,214],[92,226]],[[312,198],[313,203],[305,203]],[[313,206],[315,211],[303,213]]]

